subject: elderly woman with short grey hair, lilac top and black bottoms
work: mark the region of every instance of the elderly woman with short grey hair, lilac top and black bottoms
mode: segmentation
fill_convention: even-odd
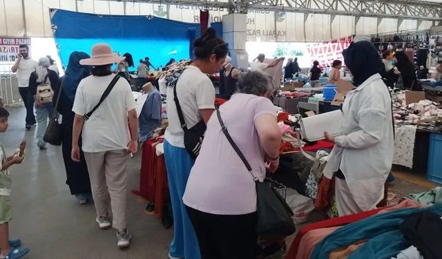
[[[242,74],[238,88],[239,93],[220,106],[220,117],[253,173],[213,113],[184,193],[203,259],[256,258],[255,179],[264,180],[266,167],[274,172],[279,164],[281,134],[268,99],[273,91],[268,75]]]

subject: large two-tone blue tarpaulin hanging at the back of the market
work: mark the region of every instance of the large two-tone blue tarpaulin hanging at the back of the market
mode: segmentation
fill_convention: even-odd
[[[150,57],[153,66],[164,66],[169,59],[189,59],[191,44],[200,37],[199,23],[184,23],[153,16],[93,15],[55,10],[52,28],[61,63],[66,66],[73,51],[90,54],[99,42],[110,44],[123,55],[131,53],[135,67],[139,59]],[[212,23],[222,37],[222,23]]]

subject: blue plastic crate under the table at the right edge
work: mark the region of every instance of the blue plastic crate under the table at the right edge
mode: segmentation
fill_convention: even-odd
[[[430,134],[427,179],[442,184],[442,134]]]

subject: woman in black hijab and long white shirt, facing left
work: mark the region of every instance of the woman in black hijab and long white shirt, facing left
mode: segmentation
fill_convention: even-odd
[[[369,211],[383,199],[384,184],[393,162],[392,100],[380,73],[381,55],[369,41],[352,43],[343,51],[356,88],[343,104],[343,133],[327,140],[335,143],[324,169],[336,176],[338,215]]]

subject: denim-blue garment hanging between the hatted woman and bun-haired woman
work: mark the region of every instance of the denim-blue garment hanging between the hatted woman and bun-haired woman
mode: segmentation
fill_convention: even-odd
[[[140,127],[140,142],[151,138],[155,128],[161,126],[161,94],[156,88],[148,93],[140,117],[138,117],[138,124]]]

